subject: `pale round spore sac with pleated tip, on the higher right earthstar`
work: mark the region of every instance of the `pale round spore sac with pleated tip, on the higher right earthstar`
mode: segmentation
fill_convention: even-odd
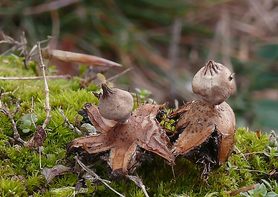
[[[234,93],[234,75],[226,66],[210,60],[194,76],[192,90],[205,102],[219,105]]]

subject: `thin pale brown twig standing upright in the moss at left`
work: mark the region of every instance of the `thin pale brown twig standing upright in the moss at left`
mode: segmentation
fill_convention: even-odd
[[[47,81],[46,81],[46,77],[45,77],[45,72],[44,72],[44,68],[45,65],[43,63],[42,60],[42,56],[41,56],[41,50],[40,50],[40,41],[37,42],[37,46],[38,46],[38,52],[39,52],[39,57],[40,57],[40,68],[41,68],[41,73],[42,73],[42,77],[43,77],[43,82],[44,82],[44,93],[45,93],[45,112],[46,112],[46,116],[45,116],[45,120],[43,121],[43,125],[42,128],[44,129],[46,127],[46,125],[48,124],[48,121],[50,120],[50,105],[49,105],[49,89],[48,89],[48,85],[47,85]]]

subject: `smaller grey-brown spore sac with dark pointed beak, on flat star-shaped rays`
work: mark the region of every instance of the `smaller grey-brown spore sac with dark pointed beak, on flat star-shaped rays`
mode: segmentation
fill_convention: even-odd
[[[126,124],[133,109],[133,97],[124,90],[109,88],[102,84],[102,96],[99,98],[99,113],[103,118]]]

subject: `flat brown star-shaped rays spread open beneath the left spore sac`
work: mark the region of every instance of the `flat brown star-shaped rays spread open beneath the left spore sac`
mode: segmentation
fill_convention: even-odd
[[[107,125],[111,122],[102,119],[96,105],[91,104],[86,110],[101,134],[72,140],[68,152],[78,147],[89,154],[110,150],[108,164],[112,175],[118,178],[128,175],[129,170],[134,167],[139,148],[153,152],[174,165],[175,158],[168,148],[171,145],[170,140],[155,119],[159,105],[142,105],[128,118],[126,124],[117,122],[114,125]]]

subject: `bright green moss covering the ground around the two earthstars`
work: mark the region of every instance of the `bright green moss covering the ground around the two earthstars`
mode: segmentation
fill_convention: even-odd
[[[35,76],[35,74],[32,70],[24,68],[22,59],[9,56],[0,59],[0,76],[27,77]],[[98,90],[99,87],[92,82],[90,88],[81,89],[79,82],[79,78],[48,80],[51,121],[46,127],[47,139],[43,144],[42,167],[67,165],[66,146],[72,139],[79,137],[63,124],[64,120],[58,109],[62,108],[65,116],[73,122],[78,116],[77,111],[86,102],[98,102],[91,91]],[[20,119],[23,113],[30,112],[31,98],[38,95],[34,102],[33,112],[38,116],[36,124],[42,125],[45,119],[43,107],[45,95],[42,80],[1,80],[0,88],[3,88],[4,92],[11,92],[3,95],[1,99],[11,111],[15,108],[17,98],[21,99],[21,110],[14,117],[15,120]],[[13,93],[14,90],[16,91]],[[20,133],[24,140],[28,140],[32,134],[33,132]],[[39,154],[11,143],[10,137],[13,137],[10,120],[0,113],[0,197],[66,197],[74,193],[74,187],[78,181],[77,175],[60,175],[49,184],[45,184],[45,177],[40,173]],[[251,154],[246,155],[245,158],[242,154],[234,154],[229,158],[229,162],[233,166],[236,165],[237,169],[229,168],[226,163],[212,172],[207,181],[202,182],[198,167],[184,158],[178,158],[174,167],[175,181],[171,166],[167,165],[162,158],[157,157],[152,163],[143,164],[138,174],[152,197],[204,197],[206,195],[226,197],[227,191],[260,183],[261,178],[266,178],[264,173],[270,173],[278,166],[277,156],[266,157],[263,153],[256,153],[269,152],[268,145],[268,135],[261,134],[259,139],[256,133],[245,128],[238,128],[236,146],[243,154]],[[105,175],[104,166],[98,164],[95,167],[99,176],[109,179]],[[268,181],[274,182],[274,180]],[[142,191],[129,180],[112,180],[110,185],[127,197],[144,196]],[[113,191],[99,184],[91,185],[89,191],[91,191],[89,194],[76,196],[117,196]]]

